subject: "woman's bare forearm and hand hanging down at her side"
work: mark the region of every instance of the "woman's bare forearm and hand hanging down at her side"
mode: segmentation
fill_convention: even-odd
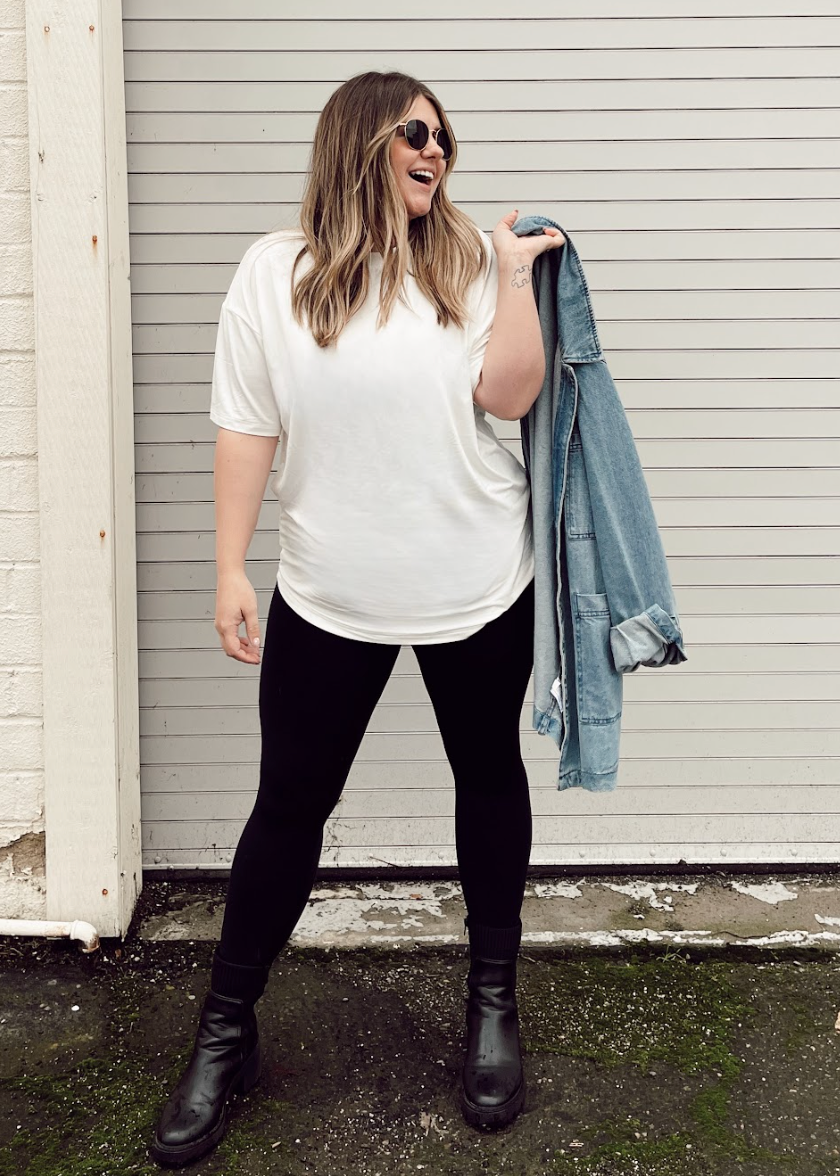
[[[219,429],[213,465],[215,502],[215,630],[228,657],[259,663],[256,594],[245,557],[256,527],[279,437]],[[239,636],[245,621],[246,636]],[[254,644],[254,642],[256,644]]]

